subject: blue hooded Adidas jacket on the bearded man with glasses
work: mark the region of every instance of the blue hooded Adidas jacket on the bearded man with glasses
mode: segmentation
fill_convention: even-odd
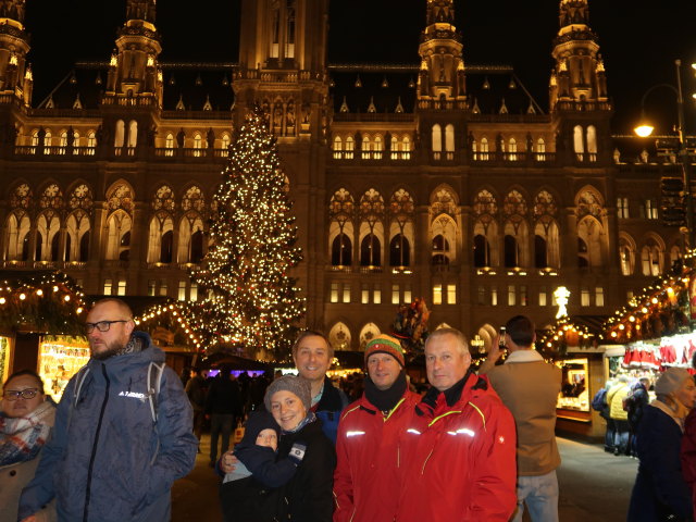
[[[165,366],[153,425],[147,378],[150,361],[164,362],[164,353],[147,334],[134,335],[146,347],[141,351],[89,360],[74,408],[75,377],[69,383],[53,438],[22,494],[20,520],[53,497],[62,522],[171,519],[172,483],[196,460],[191,407],[181,380]]]

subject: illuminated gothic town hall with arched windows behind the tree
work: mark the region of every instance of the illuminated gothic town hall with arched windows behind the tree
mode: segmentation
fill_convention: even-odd
[[[234,64],[160,62],[156,0],[128,0],[113,54],[40,103],[25,0],[3,1],[1,268],[195,301],[233,129],[260,103],[295,201],[304,322],[335,348],[417,297],[431,330],[486,344],[512,314],[552,322],[559,286],[571,313],[611,313],[683,252],[658,197],[679,171],[616,151],[588,0],[559,1],[542,103],[512,69],[465,64],[452,0],[419,1],[411,65],[337,65],[328,0],[243,0]]]

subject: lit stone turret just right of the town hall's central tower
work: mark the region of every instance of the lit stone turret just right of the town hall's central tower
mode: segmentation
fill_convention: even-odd
[[[453,25],[453,0],[427,0],[426,23],[419,47],[419,99],[463,101],[467,99],[463,46]]]

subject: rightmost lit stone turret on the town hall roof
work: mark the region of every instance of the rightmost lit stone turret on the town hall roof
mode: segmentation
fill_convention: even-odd
[[[556,66],[550,79],[550,107],[559,102],[607,103],[607,78],[597,35],[589,27],[588,0],[560,0],[560,29],[554,41]]]

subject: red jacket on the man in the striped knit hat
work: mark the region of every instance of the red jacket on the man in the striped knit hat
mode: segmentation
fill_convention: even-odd
[[[399,434],[421,397],[408,389],[385,415],[363,395],[344,411],[336,439],[334,522],[390,522],[399,500]]]

